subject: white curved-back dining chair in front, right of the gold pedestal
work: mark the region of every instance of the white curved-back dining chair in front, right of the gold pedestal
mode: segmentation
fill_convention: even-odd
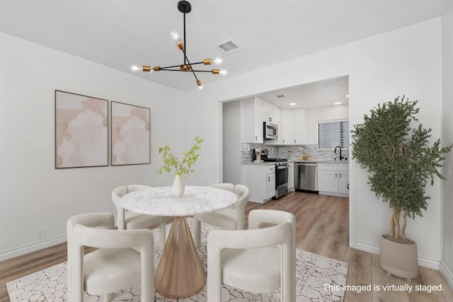
[[[262,223],[275,226],[260,228]],[[293,214],[266,209],[248,214],[248,230],[210,231],[207,301],[222,301],[222,282],[251,293],[268,293],[280,287],[283,302],[296,301],[295,233]],[[280,245],[280,250],[275,245]]]

